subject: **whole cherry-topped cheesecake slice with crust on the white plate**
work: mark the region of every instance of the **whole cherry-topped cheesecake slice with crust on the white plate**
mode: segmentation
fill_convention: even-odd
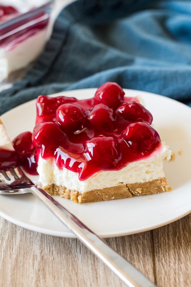
[[[169,191],[170,150],[138,97],[105,83],[94,98],[39,96],[33,144],[43,188],[76,203]]]

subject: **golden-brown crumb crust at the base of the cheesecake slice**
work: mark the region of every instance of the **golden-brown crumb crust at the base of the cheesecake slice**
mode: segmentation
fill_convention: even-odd
[[[150,195],[171,190],[165,177],[153,179],[152,181],[143,183],[139,182],[103,189],[94,189],[84,193],[77,190],[69,190],[65,186],[58,186],[56,184],[43,186],[43,188],[51,195],[59,195],[61,197],[70,198],[76,203],[127,198],[132,197],[133,195]]]

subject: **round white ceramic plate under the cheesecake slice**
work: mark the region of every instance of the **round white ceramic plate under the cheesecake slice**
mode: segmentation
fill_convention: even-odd
[[[163,226],[191,211],[191,109],[172,99],[148,92],[124,90],[126,96],[141,95],[153,114],[153,123],[161,139],[175,153],[164,161],[166,178],[173,191],[157,195],[132,197],[88,204],[75,204],[56,197],[67,209],[101,237],[133,234]],[[78,99],[93,97],[95,89],[62,92]],[[33,130],[35,100],[18,106],[1,116],[8,135]],[[34,179],[34,177],[33,177]],[[74,237],[32,194],[1,195],[0,216],[28,229],[50,235]]]

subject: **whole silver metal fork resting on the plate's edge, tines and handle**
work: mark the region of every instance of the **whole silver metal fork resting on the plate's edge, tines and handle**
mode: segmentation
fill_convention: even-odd
[[[35,185],[20,167],[0,170],[0,194],[32,192],[95,255],[100,257],[129,287],[157,287],[127,260],[115,252],[98,235],[69,212],[52,195]]]

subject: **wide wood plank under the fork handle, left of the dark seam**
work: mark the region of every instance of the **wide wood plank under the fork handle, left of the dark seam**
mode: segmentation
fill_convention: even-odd
[[[118,253],[154,280],[151,232],[108,238]],[[0,221],[0,286],[126,286],[78,239],[44,235]]]

